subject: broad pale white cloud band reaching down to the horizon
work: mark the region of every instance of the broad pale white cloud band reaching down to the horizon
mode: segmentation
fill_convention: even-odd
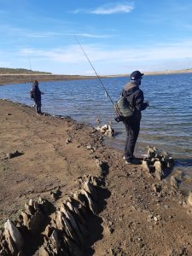
[[[132,69],[160,71],[192,67],[192,41],[154,46],[118,46],[82,44],[93,67],[99,74],[129,73]],[[3,52],[2,62],[15,62],[17,67],[28,67],[28,58],[36,70],[52,73],[93,74],[78,44],[53,49],[21,49]],[[4,66],[4,65],[3,65]],[[48,70],[49,68],[49,70]]]

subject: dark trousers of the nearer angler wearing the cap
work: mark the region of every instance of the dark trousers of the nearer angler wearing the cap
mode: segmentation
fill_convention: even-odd
[[[140,120],[131,123],[125,123],[126,141],[125,141],[125,158],[131,160],[133,158],[134,149],[137,143],[137,137],[140,131]]]

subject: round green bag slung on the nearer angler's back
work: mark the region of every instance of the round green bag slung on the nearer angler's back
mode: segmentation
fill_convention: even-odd
[[[131,106],[130,102],[124,96],[119,97],[119,100],[114,104],[114,108],[117,115],[125,119],[131,118],[135,113],[135,108]]]

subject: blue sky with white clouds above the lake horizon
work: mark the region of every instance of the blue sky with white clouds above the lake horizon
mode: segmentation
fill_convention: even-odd
[[[0,67],[92,75],[192,68],[191,0],[0,0]]]

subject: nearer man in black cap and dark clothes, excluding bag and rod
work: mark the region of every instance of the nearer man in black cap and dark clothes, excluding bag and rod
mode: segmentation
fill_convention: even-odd
[[[148,102],[144,102],[143,91],[139,88],[143,75],[144,74],[140,73],[139,71],[134,71],[131,73],[131,82],[125,84],[122,90],[122,96],[124,96],[135,109],[134,114],[129,119],[124,120],[126,128],[124,159],[126,164],[137,163],[133,153],[140,131],[140,122],[142,119],[141,112],[145,108],[149,107]]]

